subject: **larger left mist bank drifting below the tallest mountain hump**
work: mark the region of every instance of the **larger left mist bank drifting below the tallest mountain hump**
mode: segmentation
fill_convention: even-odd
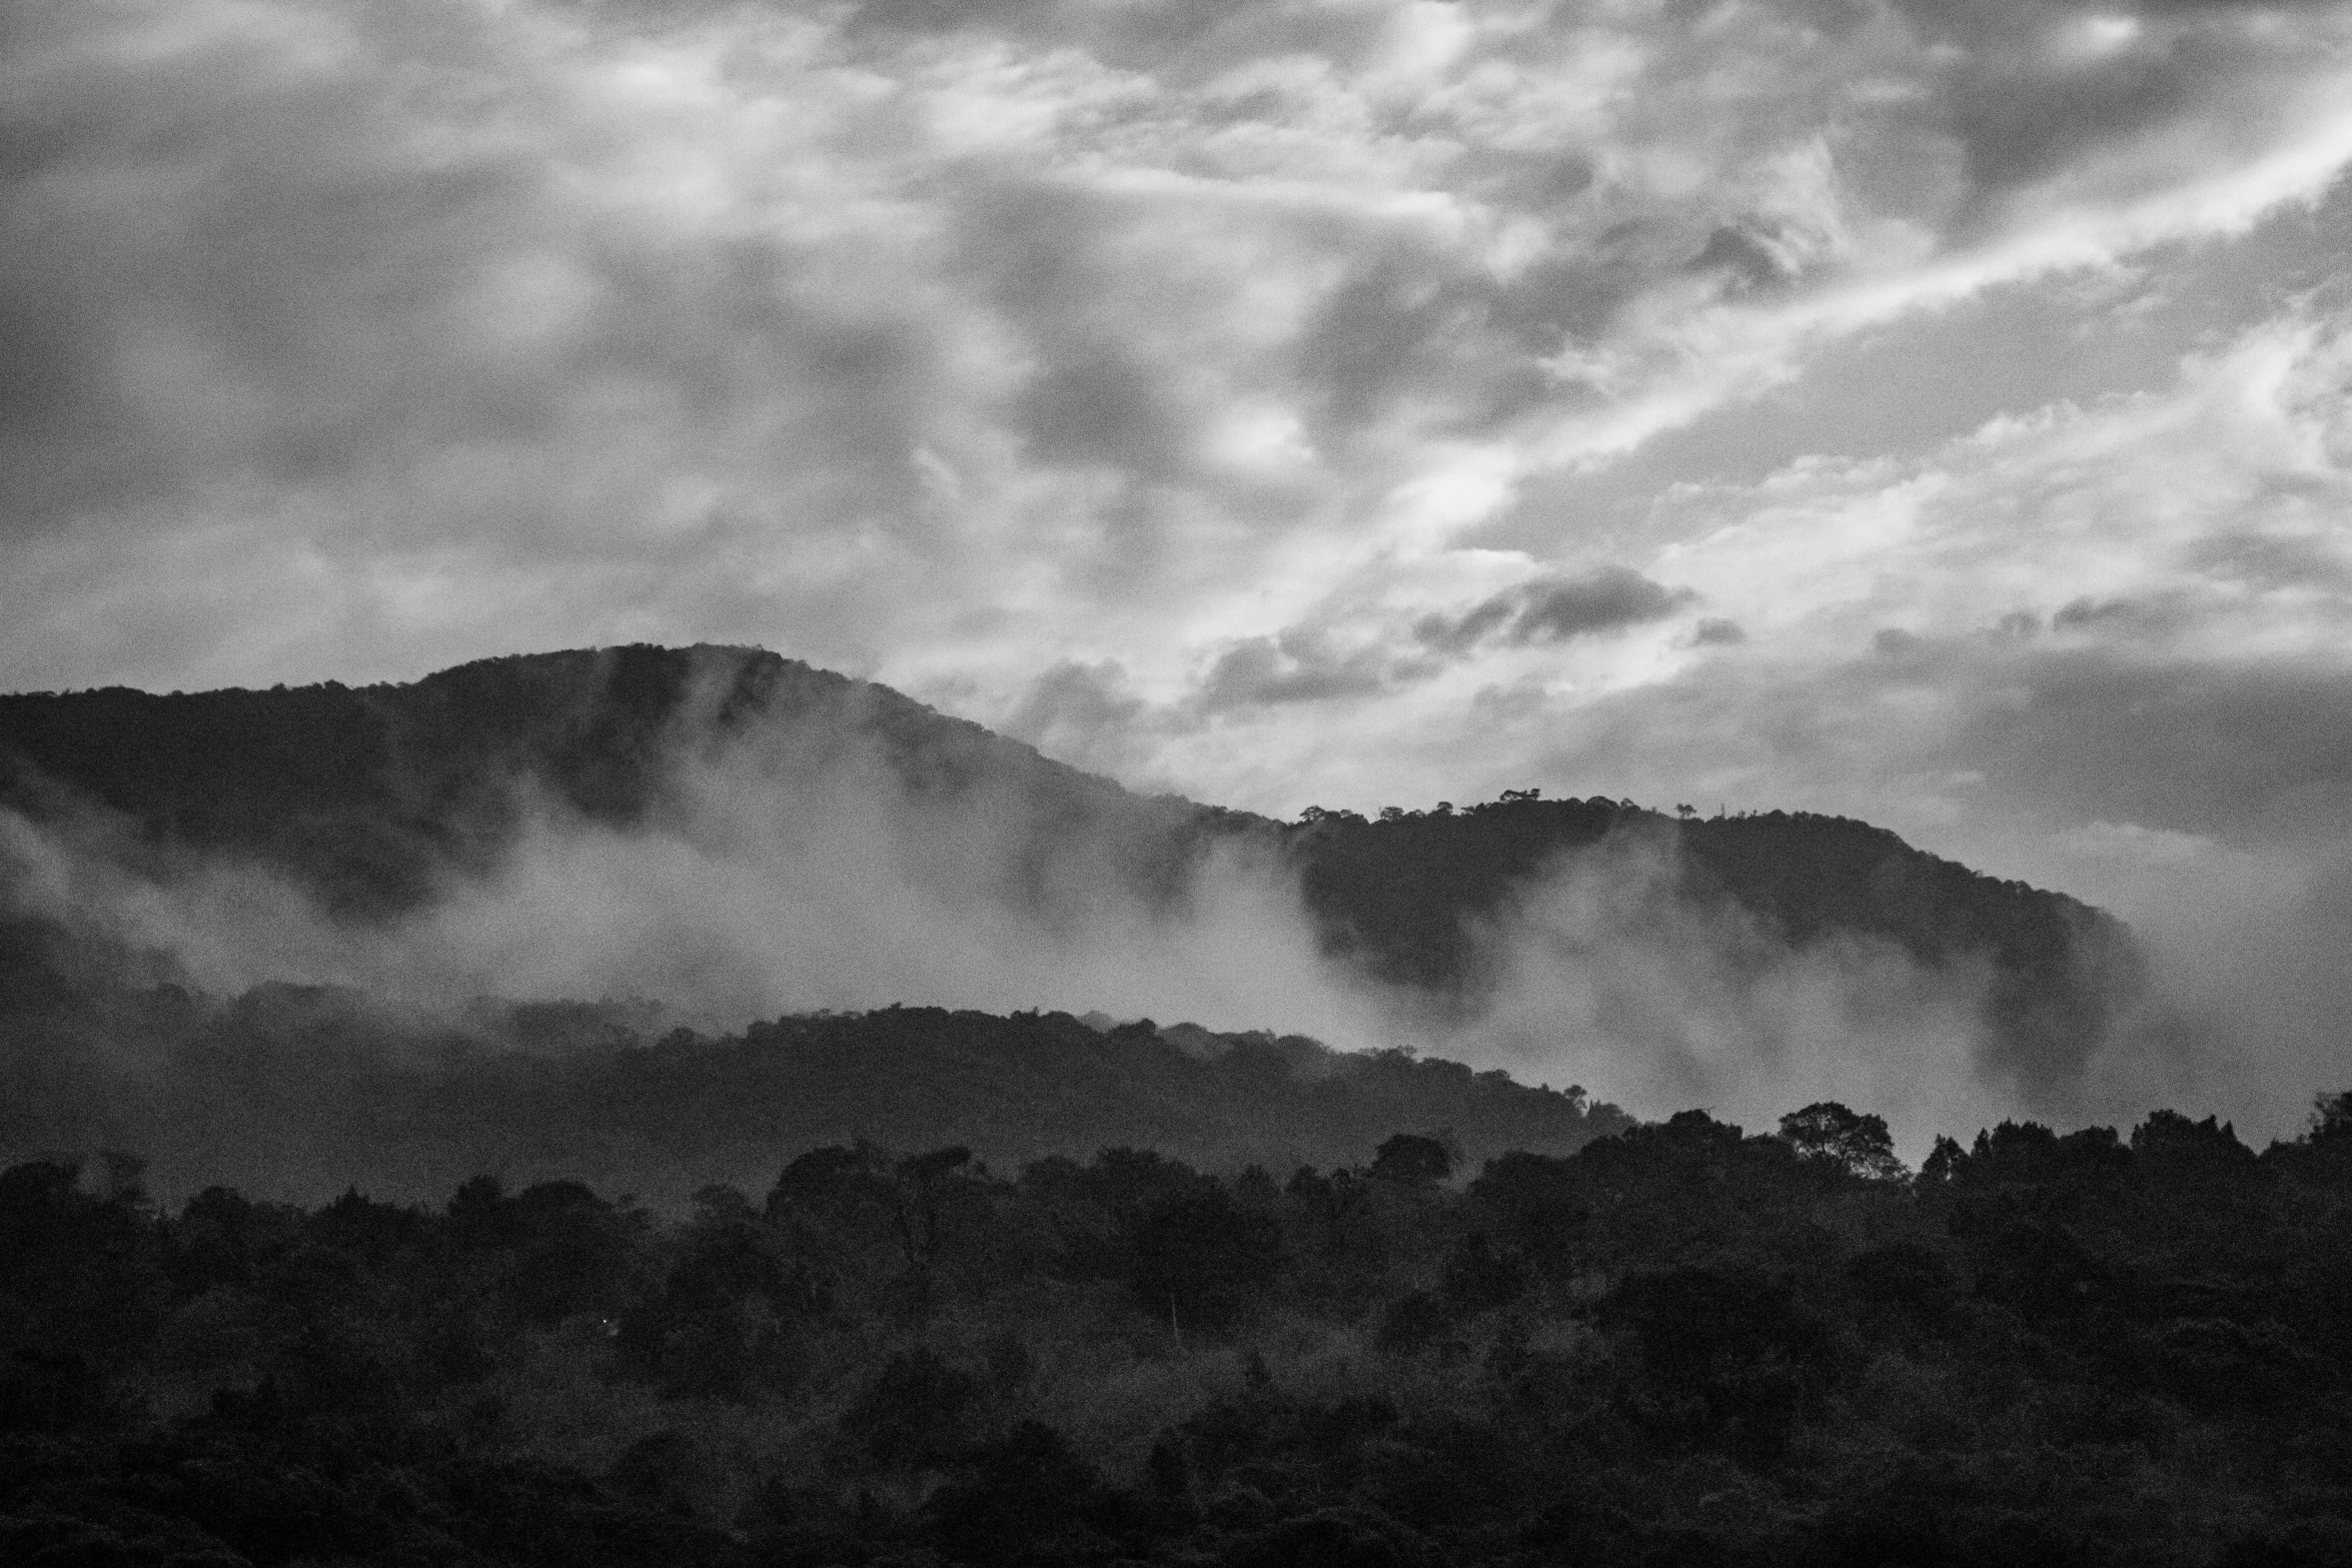
[[[167,952],[169,978],[216,994],[343,985],[423,1016],[619,997],[741,1027],[903,1001],[1385,1039],[1378,997],[1324,961],[1263,846],[1167,865],[1150,802],[1037,790],[953,743],[908,769],[854,710],[748,726],[677,748],[633,827],[517,780],[496,860],[440,867],[386,919],[336,919],[259,863],[158,856],[96,813],[0,811],[0,907]]]

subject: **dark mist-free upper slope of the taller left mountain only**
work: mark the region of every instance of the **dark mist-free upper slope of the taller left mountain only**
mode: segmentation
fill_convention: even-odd
[[[1223,816],[762,649],[642,644],[485,658],[412,684],[0,696],[0,806],[99,806],[148,849],[247,856],[339,914],[397,914],[447,872],[494,867],[534,799],[635,827],[670,804],[680,769],[760,731],[870,748],[917,795],[985,783],[1044,830],[1136,818],[1141,846]]]

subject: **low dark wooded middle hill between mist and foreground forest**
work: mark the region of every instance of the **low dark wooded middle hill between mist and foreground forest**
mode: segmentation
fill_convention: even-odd
[[[776,1150],[861,1138],[964,1143],[1007,1168],[1110,1143],[1230,1173],[1343,1164],[1395,1128],[1477,1161],[1630,1124],[1583,1088],[1303,1034],[910,1006],[731,1034],[630,1004],[447,1020],[327,987],[99,983],[0,924],[0,1152],[139,1150],[174,1199],[205,1182],[419,1199],[501,1171],[680,1208],[703,1182],[764,1185]]]

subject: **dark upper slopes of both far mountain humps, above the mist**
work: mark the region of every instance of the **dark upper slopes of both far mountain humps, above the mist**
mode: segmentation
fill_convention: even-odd
[[[1992,1065],[2025,1081],[2072,1072],[2136,987],[2129,933],[2098,910],[1865,823],[1684,820],[1531,792],[1272,823],[1131,795],[887,686],[757,649],[539,654],[367,689],[0,696],[0,809],[80,825],[153,875],[256,860],[346,919],[393,919],[492,872],[532,811],[659,827],[691,811],[689,780],[743,755],[762,759],[760,788],[776,797],[889,795],[908,804],[901,825],[985,835],[978,893],[1007,905],[1108,884],[1169,907],[1214,844],[1256,844],[1296,867],[1327,950],[1451,1009],[1477,1009],[1494,980],[1484,933],[1543,877],[1628,844],[1672,867],[1684,903],[1736,910],[1764,940],[1983,964]]]

